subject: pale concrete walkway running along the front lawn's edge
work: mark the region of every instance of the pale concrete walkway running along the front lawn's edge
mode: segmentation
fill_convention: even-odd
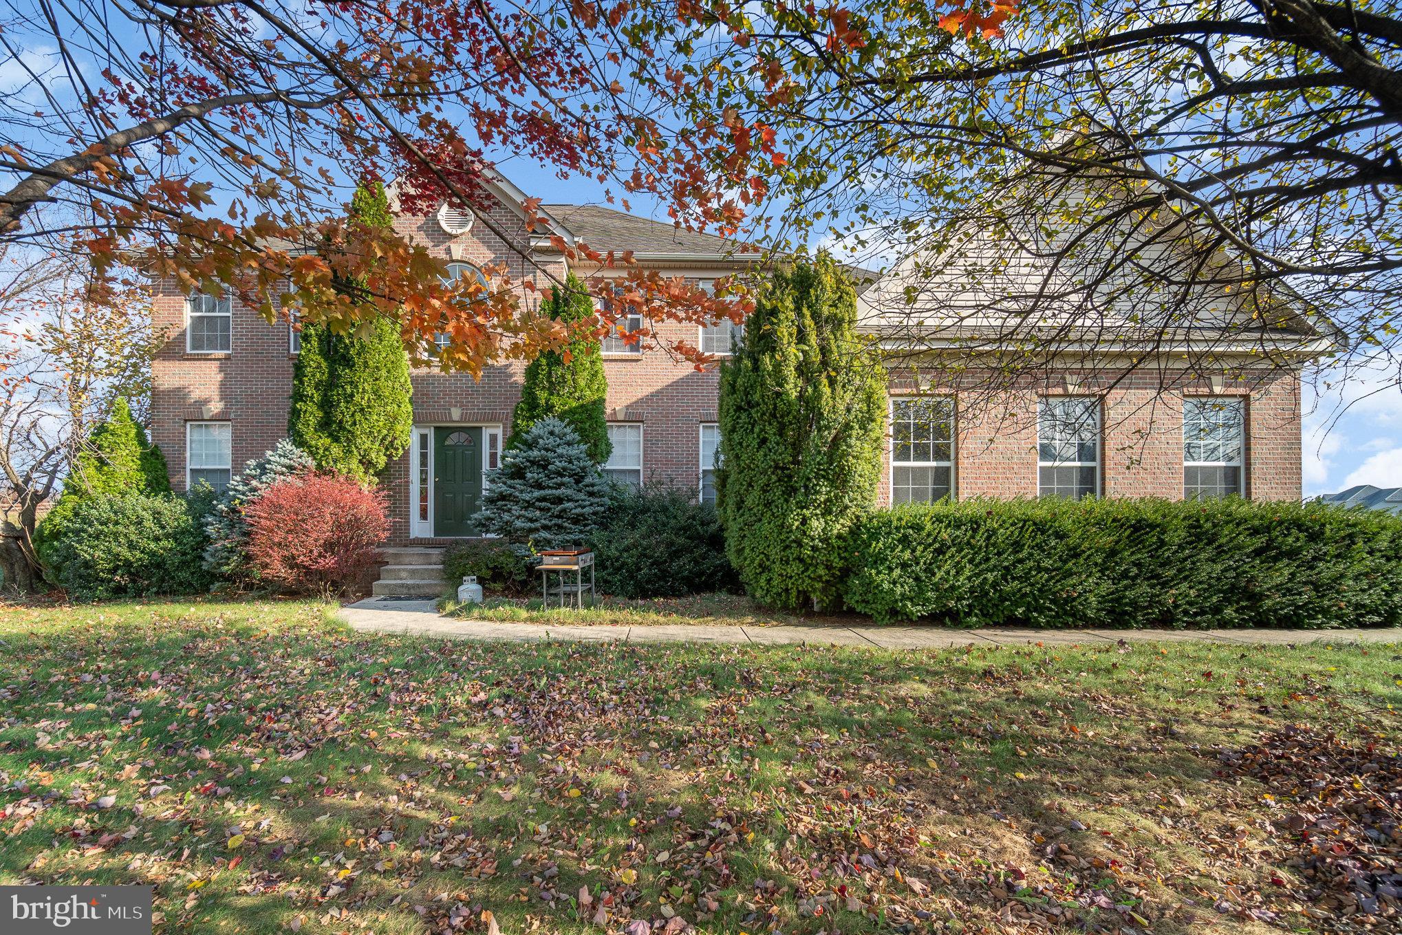
[[[1402,642],[1402,629],[946,629],[941,627],[579,627],[562,624],[508,624],[491,620],[442,617],[433,601],[363,600],[341,608],[352,629],[380,634],[412,634],[446,639],[580,639],[594,642],[694,642],[694,643],[802,643],[868,646],[878,649],[941,649],[946,646],[1023,646],[1138,642],[1217,642],[1223,645],[1300,645],[1309,642]]]

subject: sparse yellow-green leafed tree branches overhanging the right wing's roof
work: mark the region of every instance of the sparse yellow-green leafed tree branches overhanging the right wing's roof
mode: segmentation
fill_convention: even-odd
[[[1044,378],[1133,346],[1165,387],[1349,348],[1335,377],[1402,381],[1395,4],[765,0],[693,36],[708,107],[789,153],[767,243],[901,265],[917,348]]]

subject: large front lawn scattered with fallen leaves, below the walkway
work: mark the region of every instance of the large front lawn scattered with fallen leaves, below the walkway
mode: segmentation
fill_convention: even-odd
[[[168,932],[1398,925],[1392,646],[474,643],[327,610],[0,611],[0,883],[150,882]]]

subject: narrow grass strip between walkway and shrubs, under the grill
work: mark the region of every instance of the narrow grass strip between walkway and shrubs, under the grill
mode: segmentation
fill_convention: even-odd
[[[464,620],[495,620],[519,624],[569,624],[575,627],[651,627],[690,624],[716,627],[802,627],[805,624],[841,624],[871,627],[869,617],[857,614],[789,614],[760,607],[743,594],[691,594],[688,597],[585,597],[585,607],[552,606],[540,597],[488,597],[482,604],[463,604],[449,596],[439,610]]]

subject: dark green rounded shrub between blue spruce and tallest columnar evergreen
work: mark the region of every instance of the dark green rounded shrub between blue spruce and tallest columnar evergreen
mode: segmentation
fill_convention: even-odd
[[[683,597],[739,587],[715,507],[688,492],[614,491],[592,547],[606,594]]]

